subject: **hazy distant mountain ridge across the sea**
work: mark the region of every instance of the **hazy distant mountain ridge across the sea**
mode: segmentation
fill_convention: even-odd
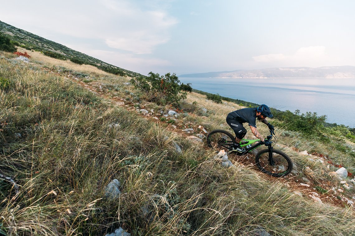
[[[350,65],[338,67],[284,67],[260,70],[233,70],[208,73],[183,74],[179,77],[212,78],[355,78],[355,67]]]

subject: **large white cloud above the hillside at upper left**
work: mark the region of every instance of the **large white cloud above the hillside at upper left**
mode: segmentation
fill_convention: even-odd
[[[31,9],[24,7],[26,4],[19,4],[19,12],[32,13],[26,22],[14,25],[29,31],[37,29],[32,33],[44,31],[46,35],[42,35],[50,39],[53,35],[67,35],[83,41],[99,40],[111,48],[146,54],[168,42],[171,27],[178,23],[166,12],[169,5],[164,1],[88,0],[85,4],[63,1],[59,5],[48,2],[46,8],[51,10],[44,10],[38,2],[34,2]],[[10,4],[6,7],[10,8]],[[8,19],[10,24],[20,21],[11,11],[6,11],[6,7],[2,20],[6,22]]]

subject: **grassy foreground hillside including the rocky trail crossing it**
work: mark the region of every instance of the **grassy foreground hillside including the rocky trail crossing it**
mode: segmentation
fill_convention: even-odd
[[[314,114],[275,115],[274,148],[296,171],[269,177],[252,154],[228,154],[234,167],[224,168],[215,150],[188,137],[231,131],[225,117],[240,101],[217,104],[192,92],[178,107],[158,105],[126,76],[18,51],[30,62],[0,52],[0,235],[120,227],[131,235],[355,234],[355,143],[346,127],[318,126]],[[165,117],[171,109],[181,115]],[[347,178],[331,174],[340,166]],[[114,179],[121,194],[105,197]]]

